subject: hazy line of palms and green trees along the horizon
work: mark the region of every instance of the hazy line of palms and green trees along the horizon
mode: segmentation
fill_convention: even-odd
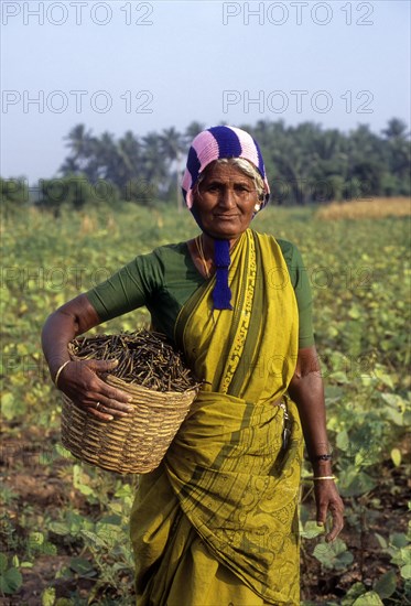
[[[182,205],[180,183],[193,138],[204,129],[193,121],[184,132],[174,127],[147,136],[127,131],[116,139],[93,134],[85,125],[65,137],[68,154],[58,177],[40,180],[33,201],[58,212],[71,205],[113,204],[119,199],[145,206]],[[377,134],[367,125],[344,133],[282,120],[242,125],[259,142],[274,203],[305,205],[374,196],[409,196],[411,148],[407,125],[392,118]],[[1,180],[2,198],[28,199],[23,180]]]

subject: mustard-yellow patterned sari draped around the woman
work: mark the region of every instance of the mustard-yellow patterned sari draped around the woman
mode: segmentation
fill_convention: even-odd
[[[181,311],[176,342],[204,380],[131,516],[141,605],[299,604],[296,409],[279,405],[298,355],[298,309],[281,250],[248,229],[229,271],[234,311],[210,280]]]

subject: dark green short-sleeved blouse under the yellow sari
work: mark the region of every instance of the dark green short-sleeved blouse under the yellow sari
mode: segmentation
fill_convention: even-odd
[[[298,248],[277,240],[286,262],[299,307],[299,346],[314,344],[310,282]],[[151,313],[156,331],[174,340],[174,324],[180,310],[206,279],[198,272],[186,242],[161,246],[149,255],[136,257],[111,278],[86,292],[100,322],[143,305]]]

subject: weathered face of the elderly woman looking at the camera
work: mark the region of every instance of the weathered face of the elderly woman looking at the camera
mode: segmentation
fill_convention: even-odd
[[[252,178],[237,166],[213,162],[194,195],[192,212],[209,236],[236,240],[250,225],[257,203]]]

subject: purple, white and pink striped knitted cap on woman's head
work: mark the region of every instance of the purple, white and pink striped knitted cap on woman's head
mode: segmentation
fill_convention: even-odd
[[[248,132],[236,127],[212,127],[193,140],[182,183],[183,196],[188,208],[193,206],[193,188],[198,176],[210,162],[220,158],[245,158],[253,164],[264,183],[266,194],[260,207],[263,208],[270,197],[270,186],[261,150]]]

